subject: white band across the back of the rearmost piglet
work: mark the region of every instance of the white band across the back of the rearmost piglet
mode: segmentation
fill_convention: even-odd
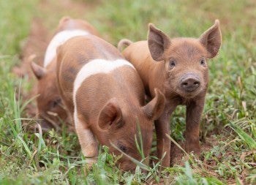
[[[88,35],[89,32],[81,29],[71,29],[71,30],[64,30],[60,31],[56,34],[53,39],[51,39],[50,44],[45,52],[45,60],[44,60],[44,67],[47,67],[50,64],[50,61],[56,56],[56,49],[59,45],[64,44],[68,39],[76,36]]]

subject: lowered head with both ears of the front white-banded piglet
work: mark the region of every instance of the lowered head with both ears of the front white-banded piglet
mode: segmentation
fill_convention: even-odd
[[[162,113],[165,106],[164,95],[156,90],[156,96],[147,105],[138,109],[127,109],[119,104],[116,98],[110,99],[102,108],[98,118],[99,129],[102,131],[97,135],[99,143],[108,146],[110,154],[121,154],[119,151],[140,161],[142,156],[136,146],[136,141],[140,146],[140,137],[143,141],[144,155],[150,153],[153,136],[153,121]],[[135,139],[136,138],[136,139]],[[113,143],[118,150],[110,143]],[[131,162],[129,157],[123,155],[118,160],[118,164],[123,170],[135,170],[136,165]]]

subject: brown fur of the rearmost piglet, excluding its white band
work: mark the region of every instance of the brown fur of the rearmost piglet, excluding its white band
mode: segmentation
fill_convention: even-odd
[[[99,35],[97,30],[86,21],[69,17],[61,18],[55,34],[58,34],[60,31],[72,29],[82,29],[89,31],[91,34]],[[39,119],[42,119],[40,122],[42,129],[46,131],[50,127],[58,129],[61,126],[61,121],[71,124],[57,88],[56,58],[53,58],[53,61],[46,68],[31,62],[31,69],[38,80],[37,94],[39,94],[39,97],[37,97],[37,114]]]

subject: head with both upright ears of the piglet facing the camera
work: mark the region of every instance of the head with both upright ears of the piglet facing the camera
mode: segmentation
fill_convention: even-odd
[[[148,49],[154,61],[165,62],[165,87],[184,98],[206,93],[207,59],[217,56],[221,42],[219,20],[215,20],[214,25],[199,39],[170,39],[153,24],[149,24]]]

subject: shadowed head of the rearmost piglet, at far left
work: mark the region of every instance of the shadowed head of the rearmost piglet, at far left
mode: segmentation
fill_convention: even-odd
[[[55,62],[53,62],[55,64]],[[31,62],[31,69],[36,76],[37,83],[37,112],[42,119],[42,129],[51,127],[58,129],[61,121],[67,118],[67,112],[62,104],[56,82],[56,72],[53,69],[45,69]]]

